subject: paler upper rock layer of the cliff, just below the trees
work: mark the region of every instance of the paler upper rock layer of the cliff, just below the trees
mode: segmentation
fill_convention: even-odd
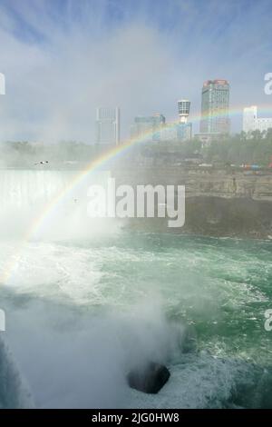
[[[199,167],[137,167],[112,171],[116,185],[185,185],[186,197],[246,198],[272,202],[272,169],[256,174]]]

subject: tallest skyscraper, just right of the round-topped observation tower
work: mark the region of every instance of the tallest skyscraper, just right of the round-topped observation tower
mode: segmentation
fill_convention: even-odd
[[[227,80],[208,80],[202,87],[200,133],[229,133],[229,84]]]

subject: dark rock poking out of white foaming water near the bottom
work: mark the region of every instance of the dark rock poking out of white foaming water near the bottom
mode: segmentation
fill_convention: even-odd
[[[127,375],[132,389],[153,394],[160,392],[169,378],[170,372],[167,367],[155,362],[149,362],[141,368],[133,369]]]

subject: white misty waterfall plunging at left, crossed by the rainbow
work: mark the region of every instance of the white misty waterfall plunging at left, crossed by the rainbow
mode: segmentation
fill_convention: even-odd
[[[91,184],[105,183],[109,173],[87,174],[77,180],[78,174],[74,171],[1,170],[0,237],[24,239],[39,218],[42,220],[38,238],[43,239],[88,238],[102,229],[101,223],[94,224],[88,217],[87,193]],[[44,214],[46,212],[48,214]]]

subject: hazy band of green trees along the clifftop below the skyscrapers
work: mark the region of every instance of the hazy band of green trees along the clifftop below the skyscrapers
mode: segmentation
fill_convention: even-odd
[[[28,142],[6,142],[1,144],[0,166],[10,168],[32,168],[35,163],[48,161],[53,167],[77,167],[76,164],[92,162],[103,151],[111,147],[63,141],[58,144],[31,144]],[[184,159],[199,156],[209,164],[258,164],[272,163],[272,129],[251,137],[245,133],[221,135],[219,140],[202,146],[198,138],[187,142],[164,142],[137,144],[120,157],[119,162],[132,164],[177,164]]]

